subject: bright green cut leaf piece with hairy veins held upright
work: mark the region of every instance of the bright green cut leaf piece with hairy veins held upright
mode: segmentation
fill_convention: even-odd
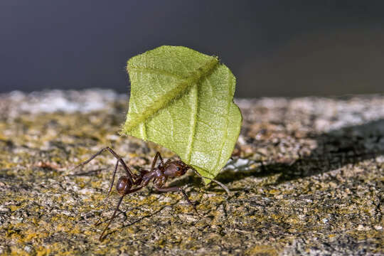
[[[122,134],[165,146],[202,176],[215,178],[240,133],[235,76],[217,57],[182,46],[134,56],[127,71],[131,96]]]

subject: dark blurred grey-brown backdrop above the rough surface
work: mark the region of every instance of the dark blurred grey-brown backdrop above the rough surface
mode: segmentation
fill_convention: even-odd
[[[0,1],[0,92],[128,92],[161,45],[218,55],[237,97],[383,92],[384,1]]]

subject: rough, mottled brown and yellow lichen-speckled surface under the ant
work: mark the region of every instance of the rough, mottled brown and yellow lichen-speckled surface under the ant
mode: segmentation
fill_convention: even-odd
[[[238,100],[244,122],[233,161],[205,188],[151,188],[105,205],[115,160],[149,169],[157,150],[119,137],[127,97],[111,91],[0,95],[0,254],[384,254],[384,97]],[[122,170],[119,170],[119,175]],[[101,225],[94,225],[101,220]]]

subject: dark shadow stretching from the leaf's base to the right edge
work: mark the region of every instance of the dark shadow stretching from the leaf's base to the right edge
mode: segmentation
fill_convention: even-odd
[[[234,159],[228,163],[217,179],[228,183],[248,176],[264,177],[280,174],[276,183],[282,183],[375,159],[384,155],[384,119],[343,127],[314,135],[309,139],[315,139],[317,147],[308,156],[299,157],[289,163],[267,164],[252,159]]]

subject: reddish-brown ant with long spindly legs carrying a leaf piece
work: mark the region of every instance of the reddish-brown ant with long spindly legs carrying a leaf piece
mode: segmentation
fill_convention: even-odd
[[[169,187],[169,188],[163,188],[164,184],[166,183],[168,178],[174,178],[183,176],[186,174],[186,171],[188,169],[193,170],[200,178],[208,178],[201,176],[196,169],[194,169],[192,166],[189,166],[188,164],[185,164],[181,160],[171,161],[171,159],[168,159],[165,163],[163,161],[163,158],[161,157],[161,154],[159,152],[156,152],[156,155],[154,157],[154,161],[152,161],[151,171],[147,171],[144,169],[139,169],[140,174],[134,174],[131,169],[125,164],[124,160],[109,146],[101,149],[96,154],[90,157],[90,159],[87,159],[86,161],[83,161],[81,164],[78,164],[78,166],[75,166],[74,169],[77,169],[80,166],[84,166],[85,164],[88,164],[92,159],[95,159],[96,156],[102,154],[103,151],[110,151],[110,153],[117,159],[116,165],[114,166],[114,172],[112,175],[112,182],[110,185],[110,189],[108,190],[107,197],[110,196],[110,192],[112,191],[113,183],[114,183],[114,176],[116,175],[117,167],[119,164],[121,164],[124,168],[124,171],[126,172],[126,175],[121,176],[119,180],[117,181],[116,190],[121,195],[119,199],[119,203],[117,203],[116,209],[114,210],[114,213],[112,214],[112,218],[110,218],[110,222],[105,227],[104,231],[102,231],[102,234],[100,235],[99,240],[103,240],[103,235],[105,231],[107,231],[108,227],[110,226],[110,223],[112,223],[112,220],[114,219],[117,210],[119,210],[120,203],[122,203],[122,200],[124,196],[127,196],[130,193],[134,193],[136,191],[139,191],[140,189],[144,188],[144,186],[148,185],[148,183],[152,180],[154,183],[154,188],[157,191],[160,192],[173,192],[178,191],[180,192],[183,197],[186,199],[188,204],[190,206],[193,206],[193,209],[198,214],[196,210],[196,206],[189,200],[186,191],[183,190],[183,188],[179,188],[177,186]],[[155,167],[157,160],[160,159],[160,163],[157,167]],[[215,183],[218,183],[224,190],[229,194],[229,189],[219,181],[214,180],[213,178],[208,178],[210,181],[213,181]],[[134,186],[134,188],[132,188]],[[199,215],[199,214],[198,214]]]

